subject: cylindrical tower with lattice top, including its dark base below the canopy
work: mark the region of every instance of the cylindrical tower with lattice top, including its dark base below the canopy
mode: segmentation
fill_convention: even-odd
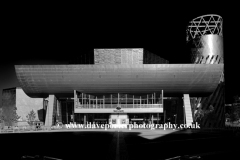
[[[204,15],[189,22],[187,44],[194,64],[224,65],[223,19],[219,15]],[[194,120],[204,127],[224,126],[225,83],[224,67],[218,87],[207,97],[192,98]]]

